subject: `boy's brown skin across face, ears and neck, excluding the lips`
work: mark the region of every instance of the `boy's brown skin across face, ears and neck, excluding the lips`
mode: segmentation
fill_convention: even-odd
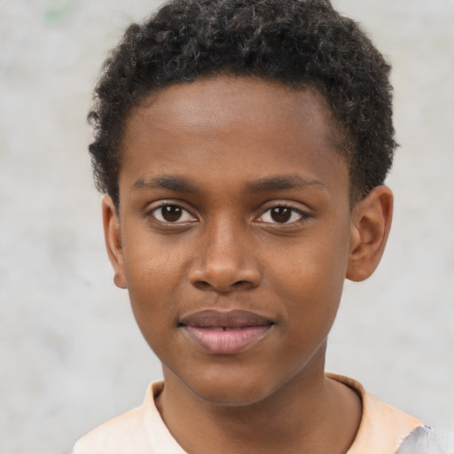
[[[120,213],[103,200],[107,252],[162,363],[160,414],[189,453],[335,454],[355,438],[360,399],[325,377],[326,339],[344,279],[380,262],[393,198],[380,186],[350,206],[339,143],[317,91],[248,78],[170,86],[129,116]],[[212,354],[180,325],[201,309],[272,325]]]

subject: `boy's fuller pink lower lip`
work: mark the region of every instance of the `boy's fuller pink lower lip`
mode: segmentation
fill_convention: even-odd
[[[271,325],[247,326],[223,331],[222,328],[184,326],[184,331],[209,353],[231,355],[252,347],[270,327]]]

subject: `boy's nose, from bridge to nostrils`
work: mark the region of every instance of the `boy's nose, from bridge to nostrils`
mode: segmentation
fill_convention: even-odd
[[[220,222],[200,237],[189,279],[201,290],[229,293],[260,285],[261,272],[244,229]]]

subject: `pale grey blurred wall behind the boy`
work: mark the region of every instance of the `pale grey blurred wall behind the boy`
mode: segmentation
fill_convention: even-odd
[[[0,0],[0,452],[68,452],[160,367],[114,287],[85,114],[150,0]],[[402,145],[380,269],[348,283],[327,369],[454,427],[454,2],[337,0],[394,65]]]

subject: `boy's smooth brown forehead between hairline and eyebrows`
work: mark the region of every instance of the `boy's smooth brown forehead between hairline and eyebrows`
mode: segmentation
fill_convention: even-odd
[[[156,173],[251,181],[297,168],[306,179],[330,179],[347,171],[316,90],[227,76],[172,85],[147,98],[129,115],[121,161],[123,181]]]

